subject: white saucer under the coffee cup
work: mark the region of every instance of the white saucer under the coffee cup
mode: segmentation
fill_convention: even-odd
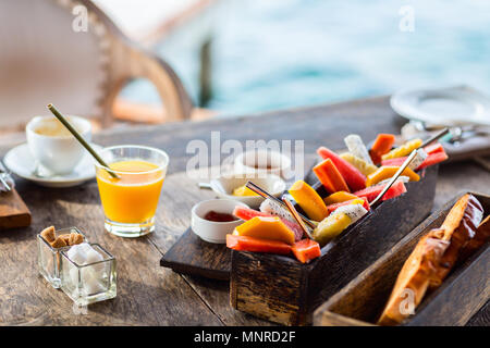
[[[90,144],[96,151],[102,149],[101,146]],[[85,183],[95,177],[94,159],[86,152],[75,170],[68,175],[56,175],[49,177],[38,177],[33,174],[36,169],[36,160],[30,154],[27,144],[22,144],[11,149],[3,158],[5,166],[22,178],[34,182],[46,187],[71,187]]]

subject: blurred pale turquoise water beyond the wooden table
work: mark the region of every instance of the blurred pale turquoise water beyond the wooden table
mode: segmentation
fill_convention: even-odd
[[[404,5],[413,11],[413,32],[400,28]],[[206,21],[213,32],[207,108],[221,114],[458,84],[490,94],[490,1],[224,0],[205,25],[156,47],[194,100],[193,41]],[[125,92],[158,99],[139,84]]]

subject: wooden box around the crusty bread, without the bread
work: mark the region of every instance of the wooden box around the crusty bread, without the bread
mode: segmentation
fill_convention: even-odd
[[[464,194],[448,202],[315,312],[315,325],[376,325],[405,260],[430,229],[439,227]],[[490,196],[473,194],[490,213]],[[402,325],[464,325],[490,299],[490,243],[456,265],[442,285],[426,294]]]

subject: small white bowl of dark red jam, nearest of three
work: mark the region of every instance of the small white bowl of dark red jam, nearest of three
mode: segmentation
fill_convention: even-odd
[[[247,204],[230,199],[209,199],[195,204],[191,211],[191,227],[203,240],[215,244],[226,243],[226,235],[232,234],[243,220],[215,222],[204,219],[211,210],[220,213],[233,213],[236,206],[248,208]]]

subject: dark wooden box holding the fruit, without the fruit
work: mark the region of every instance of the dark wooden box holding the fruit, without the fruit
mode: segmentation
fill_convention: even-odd
[[[240,311],[284,325],[311,323],[314,310],[411,232],[431,211],[438,165],[407,183],[321,249],[309,264],[269,253],[232,250],[230,302]],[[321,197],[323,189],[315,185]]]

